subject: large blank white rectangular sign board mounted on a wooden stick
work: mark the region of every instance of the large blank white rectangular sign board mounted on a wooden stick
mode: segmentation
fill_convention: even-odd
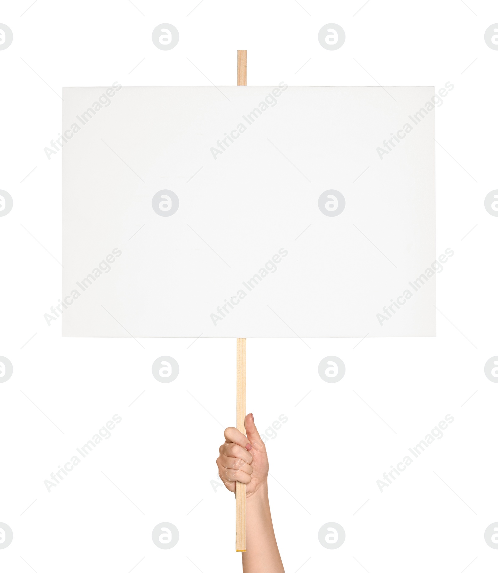
[[[106,89],[64,89],[64,336],[435,335],[433,88]]]

